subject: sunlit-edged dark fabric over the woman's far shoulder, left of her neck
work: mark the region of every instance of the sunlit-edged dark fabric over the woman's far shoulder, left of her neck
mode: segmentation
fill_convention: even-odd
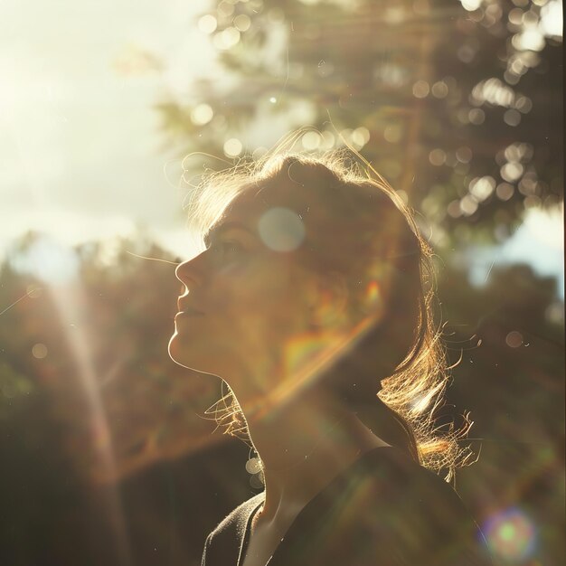
[[[228,514],[210,533],[204,543],[202,566],[236,563],[243,542],[248,518],[263,501],[264,494],[250,497]]]

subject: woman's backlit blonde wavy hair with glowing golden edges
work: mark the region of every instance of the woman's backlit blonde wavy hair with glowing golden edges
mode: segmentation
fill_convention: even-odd
[[[366,335],[347,355],[344,367],[355,371],[356,361],[376,359],[375,348],[383,337],[398,336],[405,341],[403,352],[391,359],[386,373],[382,369],[378,372],[376,366],[374,382],[363,387],[354,383],[354,389],[344,381],[330,387],[370,429],[377,429],[379,436],[405,449],[424,467],[445,472],[448,481],[455,468],[471,458],[469,448],[461,447],[471,423],[466,415],[459,429],[453,424],[437,426],[449,368],[441,325],[435,324],[433,316],[433,253],[420,235],[415,213],[371,165],[360,163],[361,159],[353,150],[314,156],[278,147],[259,161],[204,175],[189,204],[190,218],[193,228],[204,237],[247,188],[287,191],[298,194],[295,198],[304,203],[306,215],[311,206],[323,207],[323,220],[311,226],[313,238],[304,246],[309,264],[353,272],[356,285],[372,258],[393,266],[389,324],[384,325],[385,330],[380,325]],[[320,217],[321,211],[317,212]],[[329,245],[332,233],[337,236]],[[410,327],[412,335],[404,338]],[[230,389],[208,412],[226,433],[249,439],[245,417]],[[383,434],[387,430],[389,436]]]

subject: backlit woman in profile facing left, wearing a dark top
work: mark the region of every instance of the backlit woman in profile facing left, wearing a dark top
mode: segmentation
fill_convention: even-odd
[[[206,250],[176,270],[169,351],[228,383],[229,428],[265,483],[203,565],[488,564],[458,495],[423,467],[459,454],[431,432],[446,373],[429,248],[397,194],[343,161],[271,156],[196,193]]]

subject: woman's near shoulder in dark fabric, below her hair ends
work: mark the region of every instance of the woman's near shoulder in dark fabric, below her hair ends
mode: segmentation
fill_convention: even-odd
[[[491,563],[454,489],[395,448],[363,455],[316,504],[311,513],[325,517],[322,538],[336,541],[336,548],[328,550],[336,555],[355,549],[350,564],[369,563],[369,555],[395,565]]]

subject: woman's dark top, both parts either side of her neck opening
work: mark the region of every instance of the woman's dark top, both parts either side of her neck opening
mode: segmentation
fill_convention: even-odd
[[[206,539],[202,566],[241,566],[264,494]],[[373,448],[297,515],[269,566],[488,566],[486,542],[456,492],[397,448]]]

